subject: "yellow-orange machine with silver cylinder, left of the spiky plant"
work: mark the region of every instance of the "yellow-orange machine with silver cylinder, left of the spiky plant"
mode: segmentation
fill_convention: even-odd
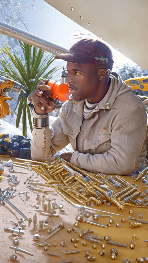
[[[13,91],[20,92],[22,88],[22,84],[4,76],[0,76],[0,119],[11,113],[7,100],[13,99],[5,96],[6,92],[10,91],[11,89]]]

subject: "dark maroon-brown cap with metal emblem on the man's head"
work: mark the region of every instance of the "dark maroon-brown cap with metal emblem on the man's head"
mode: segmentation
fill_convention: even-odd
[[[112,68],[114,60],[108,45],[99,38],[81,39],[68,51],[67,54],[55,55],[55,59],[63,59],[77,64],[97,63]]]

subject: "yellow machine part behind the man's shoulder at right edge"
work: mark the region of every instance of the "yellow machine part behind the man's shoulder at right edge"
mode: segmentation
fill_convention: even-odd
[[[148,90],[148,75],[146,77],[130,78],[125,80],[125,83],[129,85],[133,90]]]

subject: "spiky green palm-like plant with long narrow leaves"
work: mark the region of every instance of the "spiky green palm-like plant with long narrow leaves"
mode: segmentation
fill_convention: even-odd
[[[45,71],[54,61],[54,55],[47,54],[47,52],[44,50],[33,47],[32,45],[21,41],[19,41],[19,44],[22,50],[22,55],[20,54],[21,58],[19,58],[7,44],[2,44],[0,46],[0,53],[3,55],[3,59],[0,59],[0,63],[4,69],[0,70],[0,73],[21,83],[24,86],[23,91],[27,94],[30,94],[40,79],[51,78],[51,74],[56,72],[58,67],[52,68],[45,74]],[[30,81],[31,79],[33,79],[33,81]],[[22,129],[23,135],[27,136],[26,113],[28,115],[31,131],[32,122],[30,109],[26,102],[26,97],[23,91],[21,91],[19,94],[17,101],[17,105],[19,104],[19,107],[16,119],[16,127],[19,127],[21,115],[23,112]]]

